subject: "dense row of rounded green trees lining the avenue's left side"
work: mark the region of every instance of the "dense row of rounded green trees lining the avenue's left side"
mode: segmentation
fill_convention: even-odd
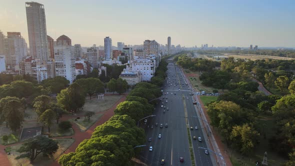
[[[165,69],[165,67],[161,68]],[[131,165],[130,159],[140,151],[140,148],[133,147],[145,142],[144,130],[136,126],[136,121],[151,114],[154,106],[148,101],[160,95],[157,85],[147,82],[137,83],[126,100],[117,105],[114,110],[115,115],[97,126],[91,138],[83,140],[75,152],[63,154],[58,163],[61,165]]]

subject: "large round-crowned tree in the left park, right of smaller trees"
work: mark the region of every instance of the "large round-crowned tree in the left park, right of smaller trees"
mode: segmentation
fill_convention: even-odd
[[[77,83],[72,83],[68,88],[62,89],[56,99],[57,105],[71,112],[76,112],[85,103],[83,89]]]

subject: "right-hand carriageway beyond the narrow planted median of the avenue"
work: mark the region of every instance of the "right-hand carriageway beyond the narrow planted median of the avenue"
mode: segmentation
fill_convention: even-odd
[[[208,147],[208,145],[207,145],[208,142],[205,140],[204,134],[206,134],[206,133],[203,133],[205,131],[202,130],[202,127],[200,125],[200,122],[201,122],[200,119],[198,119],[196,117],[192,117],[192,116],[197,116],[197,114],[196,114],[196,111],[195,111],[195,107],[192,104],[191,97],[188,97],[188,98],[189,99],[186,99],[186,105],[187,105],[187,108],[190,111],[187,112],[187,115],[191,117],[190,118],[190,122],[193,125],[193,127],[194,126],[198,126],[198,129],[197,130],[193,128],[192,133],[196,134],[195,135],[196,137],[200,136],[201,139],[202,139],[201,142],[199,142],[198,140],[195,141],[195,143],[194,143],[194,149],[195,149],[195,151],[198,151],[199,152],[199,155],[198,156],[200,157],[202,164],[204,164],[204,165],[212,165],[211,158],[209,157],[209,155],[207,155],[207,154],[204,153],[204,149],[197,148],[197,147],[207,148]]]

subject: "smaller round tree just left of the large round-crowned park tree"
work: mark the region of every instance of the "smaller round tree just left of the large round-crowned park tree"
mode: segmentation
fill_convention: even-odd
[[[47,109],[51,109],[53,99],[48,95],[39,95],[33,101],[33,108],[38,117]]]

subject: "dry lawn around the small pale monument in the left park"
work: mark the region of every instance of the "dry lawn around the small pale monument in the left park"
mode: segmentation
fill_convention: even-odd
[[[101,112],[109,109],[123,95],[105,95],[102,100],[97,100],[95,97],[90,100],[87,98],[83,106],[85,111]]]

